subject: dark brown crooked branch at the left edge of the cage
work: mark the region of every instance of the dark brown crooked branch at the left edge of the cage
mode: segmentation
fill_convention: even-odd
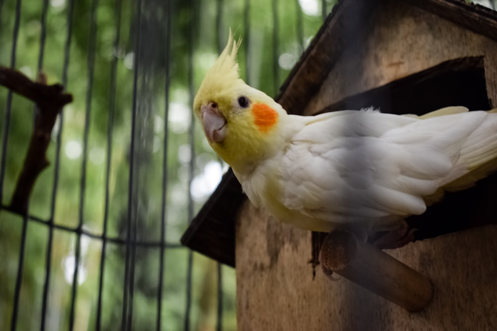
[[[46,152],[57,116],[66,104],[73,101],[73,96],[64,93],[61,84],[47,85],[44,74],[40,74],[34,82],[21,72],[4,66],[0,66],[0,85],[33,101],[39,109],[26,158],[10,201],[12,210],[25,213],[38,175],[50,164]]]

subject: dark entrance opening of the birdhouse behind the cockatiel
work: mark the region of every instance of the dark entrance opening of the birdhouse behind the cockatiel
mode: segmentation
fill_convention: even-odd
[[[384,86],[347,97],[320,113],[373,106],[383,113],[422,115],[447,106],[465,106],[470,111],[489,110],[484,57],[450,60],[392,81]],[[406,219],[416,240],[476,226],[497,223],[497,174],[475,187],[447,193],[439,203],[418,216]],[[313,258],[317,261],[325,234],[313,233]]]

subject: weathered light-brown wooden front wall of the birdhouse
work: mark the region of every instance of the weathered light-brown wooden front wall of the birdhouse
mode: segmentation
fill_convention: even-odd
[[[440,17],[436,10],[381,1],[371,13],[368,33],[333,60],[305,114],[444,61],[479,56],[484,57],[487,92],[495,107],[497,43],[481,32],[490,23],[468,29],[466,23],[474,17],[457,24],[457,15]],[[482,203],[492,201],[495,197]],[[492,209],[476,206],[471,218]],[[246,202],[236,229],[238,329],[497,330],[495,238],[497,226],[487,225],[387,251],[433,284],[428,306],[409,313],[347,279],[331,282],[320,270],[313,279],[311,232],[282,224]]]

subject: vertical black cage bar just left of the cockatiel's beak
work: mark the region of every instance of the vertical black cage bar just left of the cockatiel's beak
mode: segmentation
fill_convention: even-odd
[[[187,35],[187,52],[188,52],[188,94],[190,105],[193,105],[194,86],[193,86],[193,36],[195,33],[195,0],[189,0],[189,18],[188,35]],[[190,143],[190,165],[188,172],[188,221],[193,218],[193,199],[191,196],[191,182],[193,181],[193,170],[195,168],[195,119],[193,112],[190,112],[190,129],[188,131],[188,141]],[[191,281],[193,270],[193,252],[188,251],[187,274],[186,274],[186,309],[184,330],[190,330],[190,310],[191,310]]]

